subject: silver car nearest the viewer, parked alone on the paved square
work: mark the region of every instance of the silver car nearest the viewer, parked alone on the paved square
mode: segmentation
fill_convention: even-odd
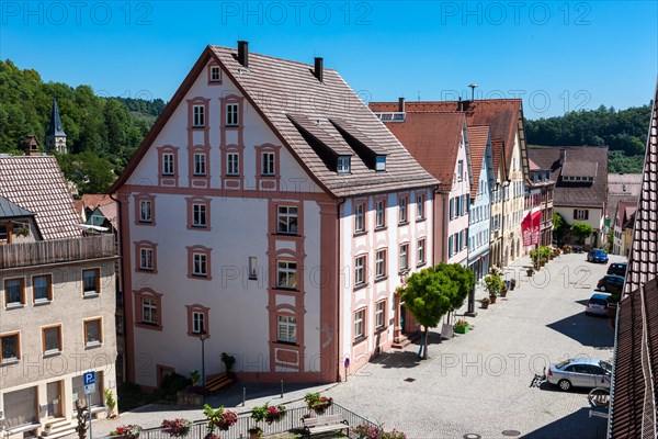
[[[597,358],[576,358],[551,364],[546,381],[563,391],[571,387],[610,389],[612,365]]]

